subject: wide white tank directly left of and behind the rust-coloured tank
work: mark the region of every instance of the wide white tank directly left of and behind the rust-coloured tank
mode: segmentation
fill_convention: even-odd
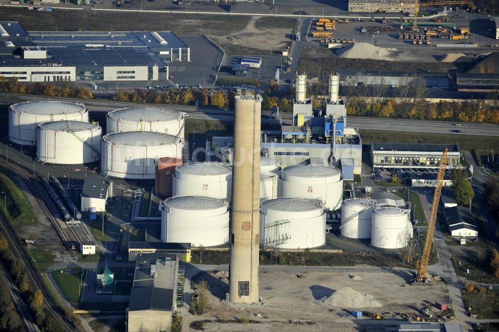
[[[125,131],[102,137],[101,172],[126,179],[154,179],[155,160],[182,158],[183,141],[151,131]]]

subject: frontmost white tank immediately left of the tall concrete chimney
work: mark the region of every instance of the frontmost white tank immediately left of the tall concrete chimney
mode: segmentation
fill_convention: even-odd
[[[219,246],[229,241],[229,209],[222,200],[202,196],[171,197],[161,211],[161,240]]]

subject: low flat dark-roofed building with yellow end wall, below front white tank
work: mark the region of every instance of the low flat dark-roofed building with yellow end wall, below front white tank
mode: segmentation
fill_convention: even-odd
[[[165,243],[165,242],[129,242],[128,260],[135,261],[140,254],[173,254],[177,255],[179,262],[191,261],[190,243]]]

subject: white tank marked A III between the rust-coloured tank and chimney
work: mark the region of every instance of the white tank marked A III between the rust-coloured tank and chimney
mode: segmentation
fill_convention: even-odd
[[[173,196],[208,196],[231,200],[232,166],[216,163],[188,163],[177,166]]]

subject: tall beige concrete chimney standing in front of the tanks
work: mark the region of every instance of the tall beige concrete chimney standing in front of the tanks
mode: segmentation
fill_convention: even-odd
[[[258,302],[261,97],[239,95],[234,102],[229,301],[252,303]]]

